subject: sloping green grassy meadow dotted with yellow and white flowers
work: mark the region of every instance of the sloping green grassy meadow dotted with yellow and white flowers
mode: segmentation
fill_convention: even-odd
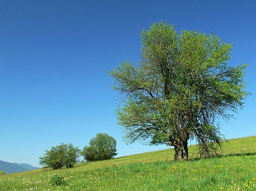
[[[173,161],[173,149],[78,164],[61,170],[40,169],[0,176],[1,191],[219,191],[256,190],[256,136],[228,140],[221,156]],[[60,175],[65,185],[52,186]]]

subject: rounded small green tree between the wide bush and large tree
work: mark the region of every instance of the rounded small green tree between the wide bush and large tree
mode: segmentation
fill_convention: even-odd
[[[86,161],[108,160],[117,155],[117,141],[107,133],[98,133],[93,137],[89,146],[85,146],[81,155]]]

